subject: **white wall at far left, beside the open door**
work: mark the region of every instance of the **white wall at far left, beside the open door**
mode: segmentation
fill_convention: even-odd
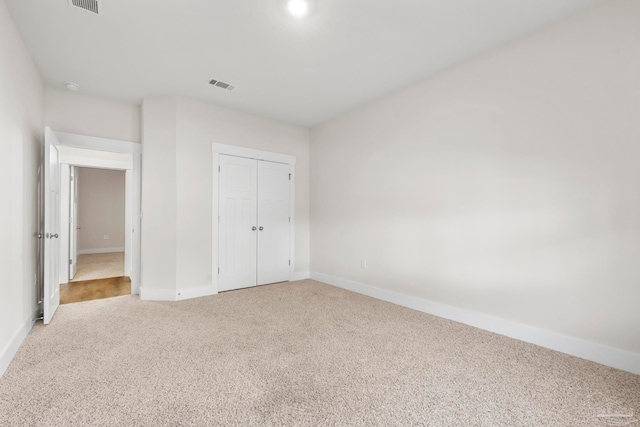
[[[0,1],[0,375],[37,314],[35,275],[43,85]]]

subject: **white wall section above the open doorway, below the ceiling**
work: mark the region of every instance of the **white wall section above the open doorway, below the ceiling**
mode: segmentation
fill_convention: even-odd
[[[45,88],[44,120],[58,132],[140,142],[141,107],[119,101]]]

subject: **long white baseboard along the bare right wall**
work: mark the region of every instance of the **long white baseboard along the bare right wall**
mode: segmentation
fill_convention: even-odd
[[[311,272],[311,278],[434,316],[454,320],[623,371],[640,374],[640,354],[637,353],[315,271]]]

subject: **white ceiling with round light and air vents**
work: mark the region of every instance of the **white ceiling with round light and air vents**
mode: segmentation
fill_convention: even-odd
[[[5,0],[45,83],[314,126],[600,0]],[[236,89],[212,87],[215,78]]]

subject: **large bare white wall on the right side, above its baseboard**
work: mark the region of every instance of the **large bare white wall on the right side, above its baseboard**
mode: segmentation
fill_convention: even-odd
[[[639,22],[606,2],[315,129],[312,270],[640,356]]]

